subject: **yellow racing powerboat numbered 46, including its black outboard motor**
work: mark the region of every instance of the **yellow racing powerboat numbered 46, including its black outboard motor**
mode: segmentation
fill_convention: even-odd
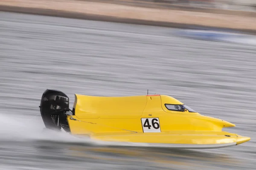
[[[73,135],[106,142],[130,142],[151,147],[219,148],[238,145],[250,137],[222,131],[234,124],[201,115],[167,95],[69,97],[47,89],[41,98],[44,125]]]

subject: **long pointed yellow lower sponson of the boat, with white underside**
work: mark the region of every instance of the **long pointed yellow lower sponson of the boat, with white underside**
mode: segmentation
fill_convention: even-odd
[[[241,144],[250,140],[225,131],[169,131],[163,133],[119,133],[94,134],[94,140],[105,142],[122,142],[148,147],[171,148],[221,148]]]

